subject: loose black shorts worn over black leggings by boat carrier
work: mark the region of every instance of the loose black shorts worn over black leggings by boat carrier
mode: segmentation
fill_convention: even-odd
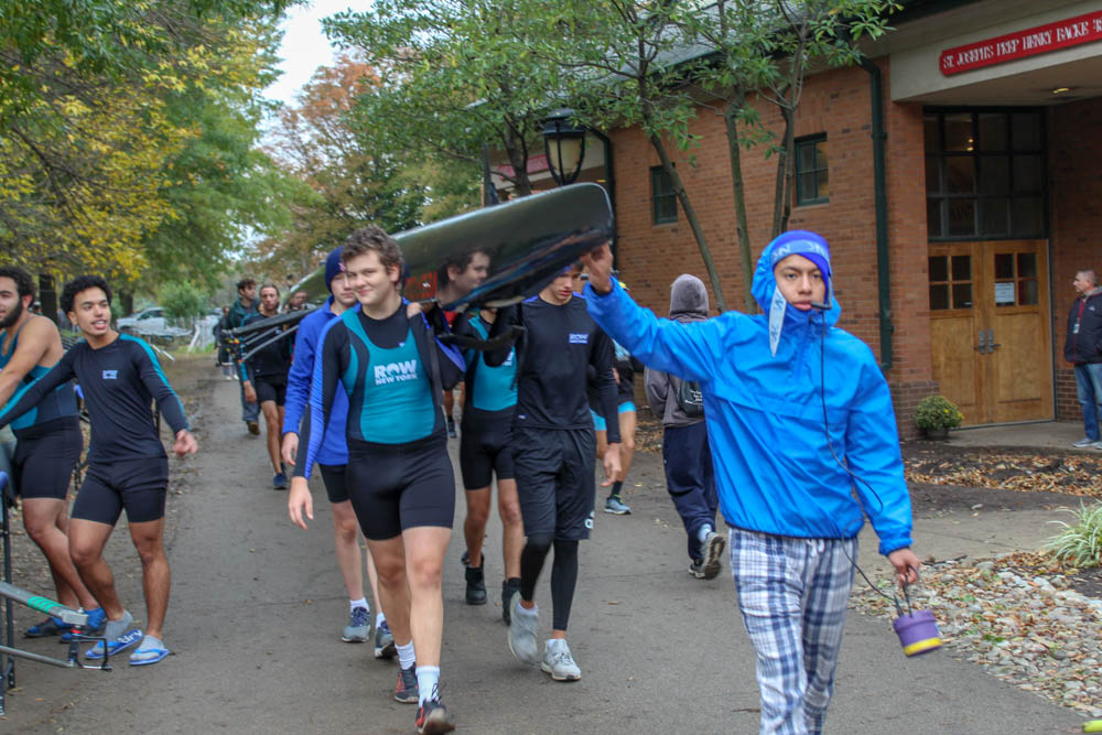
[[[590,538],[596,451],[592,429],[514,429],[512,463],[525,536]]]

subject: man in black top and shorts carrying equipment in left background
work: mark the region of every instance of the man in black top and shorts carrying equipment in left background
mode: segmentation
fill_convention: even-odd
[[[277,314],[279,314],[279,289],[272,283],[264,283],[260,287],[260,311],[247,316],[241,326],[256,324]],[[283,331],[282,326],[273,326],[249,335],[259,349],[245,360],[240,368],[246,400],[260,403],[260,410],[264,414],[268,457],[276,472],[272,487],[277,490],[287,489],[287,473],[280,460],[282,441],[280,432],[283,426],[283,403],[287,398],[287,374],[291,369],[291,339],[280,338]]]

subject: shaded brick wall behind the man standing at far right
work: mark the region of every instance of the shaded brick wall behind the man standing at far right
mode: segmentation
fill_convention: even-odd
[[[1102,98],[1049,110],[1048,138],[1056,411],[1061,421],[1081,421],[1063,341],[1076,272],[1102,273]]]

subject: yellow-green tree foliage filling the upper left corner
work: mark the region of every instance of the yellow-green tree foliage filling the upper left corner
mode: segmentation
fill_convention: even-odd
[[[188,154],[255,140],[257,94],[278,41],[264,21],[284,4],[0,3],[3,259],[60,277],[94,270],[121,285],[151,271],[163,278],[180,262],[216,266],[226,231],[241,221],[219,225],[214,213],[240,220],[241,208]],[[219,163],[239,181],[257,174],[256,161]],[[187,206],[215,194],[222,202],[203,216]]]

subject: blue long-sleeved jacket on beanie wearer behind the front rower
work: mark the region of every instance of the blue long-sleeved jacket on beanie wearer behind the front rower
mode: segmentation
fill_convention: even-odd
[[[299,331],[294,337],[294,361],[287,375],[287,402],[283,414],[283,433],[300,433],[303,413],[310,401],[310,381],[314,375],[314,364],[318,359],[320,337],[325,325],[337,318],[333,313],[333,296],[325,300],[320,309],[299,322]],[[348,396],[343,390],[333,397],[333,409],[329,411],[329,422],[317,447],[317,463],[323,465],[348,464],[348,444],[345,441],[345,418],[348,415]],[[300,445],[305,452],[305,445]],[[305,453],[302,455],[305,457]],[[294,468],[294,474],[303,476],[302,463]]]

